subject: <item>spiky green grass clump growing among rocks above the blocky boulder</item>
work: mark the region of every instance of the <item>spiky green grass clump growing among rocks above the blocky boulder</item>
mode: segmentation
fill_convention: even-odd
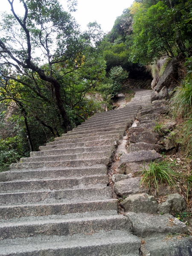
[[[175,163],[170,163],[167,160],[151,161],[147,167],[144,165],[140,172],[142,175],[140,185],[147,186],[151,192],[156,189],[157,194],[159,193],[160,184],[166,183],[172,188],[175,187],[180,174],[172,170],[174,166]]]

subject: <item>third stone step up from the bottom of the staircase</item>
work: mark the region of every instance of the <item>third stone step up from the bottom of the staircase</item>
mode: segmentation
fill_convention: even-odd
[[[77,203],[53,203],[53,204],[20,204],[0,206],[0,221],[31,221],[31,218],[40,218],[50,215],[79,215],[79,213],[94,211],[117,211],[117,199],[82,201]]]

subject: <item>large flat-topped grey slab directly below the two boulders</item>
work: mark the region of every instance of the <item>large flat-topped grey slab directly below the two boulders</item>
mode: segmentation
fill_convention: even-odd
[[[148,237],[162,233],[188,233],[186,225],[172,215],[128,212],[126,216],[132,224],[133,234],[137,236]]]

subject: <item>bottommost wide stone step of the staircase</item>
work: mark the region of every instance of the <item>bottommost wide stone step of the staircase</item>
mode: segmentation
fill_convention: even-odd
[[[34,239],[35,240],[35,239]],[[140,239],[125,231],[100,231],[75,240],[55,236],[55,241],[19,239],[0,246],[0,256],[139,256]],[[16,245],[16,246],[15,246]]]

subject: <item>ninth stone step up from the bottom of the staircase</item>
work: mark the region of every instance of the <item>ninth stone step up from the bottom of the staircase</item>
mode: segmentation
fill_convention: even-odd
[[[100,146],[100,147],[80,147],[80,148],[66,148],[66,149],[53,149],[46,151],[32,151],[30,152],[30,157],[43,157],[43,156],[53,156],[53,155],[64,155],[64,154],[78,154],[78,153],[88,153],[88,152],[101,152],[115,150],[114,146]]]

